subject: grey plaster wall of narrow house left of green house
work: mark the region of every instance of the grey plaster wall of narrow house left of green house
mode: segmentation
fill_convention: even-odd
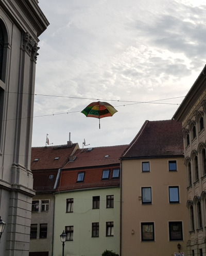
[[[42,210],[42,202],[49,201],[48,211]],[[36,194],[33,201],[39,201],[39,210],[31,213],[31,224],[37,224],[37,238],[30,239],[29,255],[38,255],[39,252],[48,252],[48,256],[53,255],[53,234],[54,234],[54,194]],[[40,224],[47,224],[46,238],[40,237]]]

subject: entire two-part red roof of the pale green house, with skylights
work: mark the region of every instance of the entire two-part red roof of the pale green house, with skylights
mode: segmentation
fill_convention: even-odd
[[[120,167],[120,157],[128,145],[77,149],[73,162],[61,172],[57,190],[119,186],[119,178],[112,178],[113,169]],[[109,169],[109,179],[102,179],[103,170]],[[77,182],[79,172],[85,172],[83,182]]]

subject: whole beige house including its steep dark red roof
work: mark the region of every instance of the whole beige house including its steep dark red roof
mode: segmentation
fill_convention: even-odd
[[[181,123],[146,121],[123,155],[121,256],[174,255],[178,244],[187,255],[181,136]]]

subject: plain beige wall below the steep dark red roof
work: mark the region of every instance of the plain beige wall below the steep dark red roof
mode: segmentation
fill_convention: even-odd
[[[176,160],[177,171],[169,171]],[[149,161],[150,171],[142,172]],[[133,159],[122,161],[122,256],[174,255],[180,243],[186,254],[188,236],[184,158]],[[179,187],[179,203],[169,203],[169,186]],[[151,204],[142,204],[142,187],[151,187]],[[169,240],[169,222],[180,221],[183,240]],[[141,222],[153,222],[155,240],[142,242]]]

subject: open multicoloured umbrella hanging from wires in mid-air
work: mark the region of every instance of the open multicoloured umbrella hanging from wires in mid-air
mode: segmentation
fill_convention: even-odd
[[[117,110],[107,102],[92,102],[87,108],[81,111],[87,117],[99,118],[99,129],[100,129],[100,118],[113,116]]]

